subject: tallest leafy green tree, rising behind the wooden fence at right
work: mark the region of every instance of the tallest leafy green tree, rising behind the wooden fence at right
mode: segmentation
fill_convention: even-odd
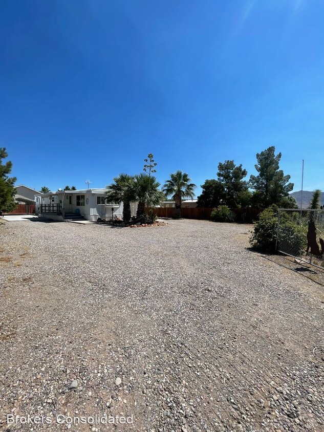
[[[275,147],[271,146],[261,153],[257,153],[255,169],[257,176],[250,177],[250,187],[257,192],[261,207],[269,207],[272,204],[282,206],[284,198],[289,196],[293,189],[293,183],[288,183],[290,176],[285,176],[279,169],[281,153],[275,155]]]

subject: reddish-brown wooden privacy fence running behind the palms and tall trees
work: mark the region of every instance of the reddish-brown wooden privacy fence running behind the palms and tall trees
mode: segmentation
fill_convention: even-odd
[[[158,218],[174,218],[175,207],[150,207],[147,210],[153,210]],[[231,211],[235,214],[234,222],[251,223],[258,219],[262,208],[233,208]],[[185,219],[210,219],[212,208],[194,207],[181,208],[181,217]]]

